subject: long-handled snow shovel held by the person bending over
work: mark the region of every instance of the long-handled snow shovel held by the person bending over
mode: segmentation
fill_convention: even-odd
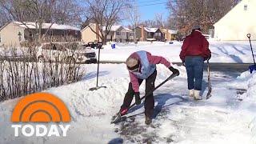
[[[178,74],[171,74],[169,78],[166,78],[165,81],[163,81],[162,83],[160,83],[158,86],[156,86],[156,87],[155,87],[153,90],[151,90],[149,93],[145,94],[145,95],[141,98],[141,100],[144,99],[144,98],[146,98],[148,95],[152,94],[152,93],[154,92],[154,90],[157,90],[157,89],[158,89],[160,86],[162,86],[164,83],[166,83],[167,81],[169,81],[170,79],[172,79],[172,78],[174,78],[174,77],[176,77],[176,76],[178,76]],[[132,108],[132,107],[134,107],[134,106],[135,106],[135,102],[134,102],[132,105],[130,105],[130,106],[128,107],[128,110],[130,110],[130,108]],[[118,114],[115,114],[115,115],[111,118],[111,124],[112,124],[112,123],[116,124],[116,123],[118,123],[118,122],[123,122],[123,121],[126,120],[126,118],[127,118],[126,116],[122,116],[121,113],[118,112]]]

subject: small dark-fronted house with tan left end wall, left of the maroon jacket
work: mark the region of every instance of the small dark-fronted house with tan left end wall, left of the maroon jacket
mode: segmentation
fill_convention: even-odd
[[[137,26],[135,30],[138,41],[163,41],[165,39],[164,34],[158,28]]]

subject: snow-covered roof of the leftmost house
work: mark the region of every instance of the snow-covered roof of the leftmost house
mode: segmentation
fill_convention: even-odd
[[[36,29],[35,22],[13,22],[13,23],[23,28]],[[51,25],[52,23],[42,23],[42,29],[49,29],[50,27],[50,29],[52,30],[80,30],[74,26],[58,25],[57,23],[54,23],[52,26]]]

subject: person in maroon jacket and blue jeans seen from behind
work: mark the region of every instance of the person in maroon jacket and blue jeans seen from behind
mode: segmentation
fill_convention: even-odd
[[[211,53],[209,42],[202,35],[200,26],[194,26],[192,33],[185,38],[179,56],[186,66],[189,95],[201,100],[203,63],[210,59]]]

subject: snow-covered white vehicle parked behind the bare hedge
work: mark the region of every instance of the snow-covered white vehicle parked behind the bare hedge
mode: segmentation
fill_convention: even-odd
[[[38,62],[97,62],[94,50],[86,49],[76,42],[43,43],[38,47]]]

